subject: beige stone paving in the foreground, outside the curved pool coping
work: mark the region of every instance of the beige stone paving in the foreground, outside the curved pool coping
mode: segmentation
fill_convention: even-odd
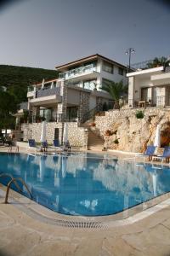
[[[106,230],[46,224],[0,201],[0,255],[170,255],[170,207]]]

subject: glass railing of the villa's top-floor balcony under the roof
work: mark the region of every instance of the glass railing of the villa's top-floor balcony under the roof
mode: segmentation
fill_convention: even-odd
[[[91,73],[93,71],[96,71],[96,67],[94,67],[93,64],[84,66],[84,67],[77,67],[75,69],[72,69],[70,71],[59,73],[59,79],[71,79],[72,77],[82,74],[82,73]]]

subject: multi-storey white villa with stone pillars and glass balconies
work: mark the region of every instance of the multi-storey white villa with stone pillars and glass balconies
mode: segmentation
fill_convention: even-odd
[[[47,133],[50,143],[54,138],[59,138],[61,141],[64,122],[70,122],[70,130],[77,132],[78,137],[83,122],[91,119],[100,110],[104,110],[105,106],[108,108],[110,105],[112,108],[112,98],[107,92],[101,90],[102,84],[112,81],[123,81],[127,84],[126,67],[98,54],[55,68],[59,73],[58,79],[43,80],[42,83],[33,84],[28,89],[27,125],[20,125],[20,120],[22,120],[20,113],[24,115],[26,111],[20,109],[15,114],[17,126],[23,131],[23,140],[31,137],[39,140],[41,127],[35,124],[42,118],[48,122]],[[74,122],[72,126],[71,122]],[[81,129],[76,129],[75,125]],[[70,137],[72,142],[76,140],[73,139],[74,136]]]

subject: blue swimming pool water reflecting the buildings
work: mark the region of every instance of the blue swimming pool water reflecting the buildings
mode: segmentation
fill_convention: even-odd
[[[69,215],[114,214],[170,190],[168,167],[135,165],[108,154],[0,154],[1,172],[22,177],[34,201]],[[8,181],[0,177],[0,183]]]

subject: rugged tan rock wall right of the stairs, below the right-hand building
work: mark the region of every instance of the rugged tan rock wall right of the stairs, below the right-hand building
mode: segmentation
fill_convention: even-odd
[[[161,125],[161,146],[170,143],[170,111],[166,108],[146,108],[144,118],[137,119],[137,109],[112,110],[96,116],[96,130],[105,139],[105,147],[123,151],[144,152],[153,144],[156,126]],[[165,134],[167,134],[165,136]]]

